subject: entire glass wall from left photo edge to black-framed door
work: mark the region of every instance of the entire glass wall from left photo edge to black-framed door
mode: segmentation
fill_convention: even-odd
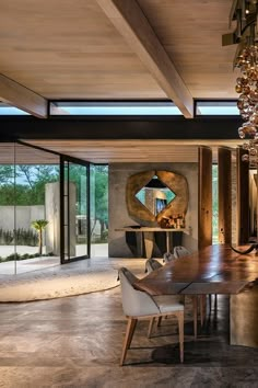
[[[0,274],[60,264],[59,156],[17,142],[0,149]]]

